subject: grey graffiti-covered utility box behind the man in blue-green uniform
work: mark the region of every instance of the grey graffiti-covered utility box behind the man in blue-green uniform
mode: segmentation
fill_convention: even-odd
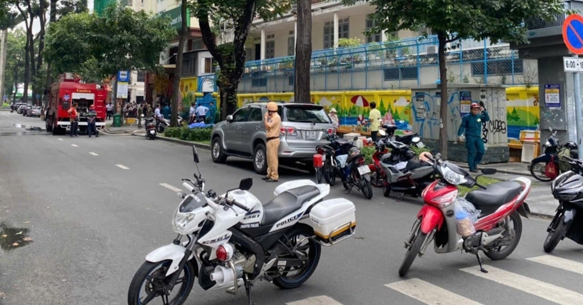
[[[482,138],[486,153],[482,163],[508,162],[508,134],[506,89],[499,85],[472,83],[448,83],[447,101],[441,100],[438,84],[412,87],[412,128],[419,132],[427,146],[438,152],[441,129],[440,107],[447,102],[448,159],[467,162],[465,143],[458,141],[458,129],[462,117],[470,112],[472,103],[483,104],[490,116],[482,124]]]

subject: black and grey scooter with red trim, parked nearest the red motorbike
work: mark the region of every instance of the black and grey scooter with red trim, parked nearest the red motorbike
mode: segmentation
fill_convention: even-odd
[[[373,164],[369,165],[374,171],[371,181],[373,185],[382,186],[383,195],[389,197],[391,191],[400,192],[402,199],[405,195],[419,197],[427,185],[433,183],[434,170],[430,163],[417,158],[410,146],[404,143],[384,138],[375,144]],[[386,148],[391,152],[385,152]]]

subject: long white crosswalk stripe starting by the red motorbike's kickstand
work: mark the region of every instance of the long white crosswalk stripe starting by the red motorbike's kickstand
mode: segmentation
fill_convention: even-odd
[[[494,268],[484,265],[488,271],[487,274],[474,267],[460,269],[463,272],[468,272],[480,278],[489,279],[502,285],[510,286],[512,288],[522,290],[531,295],[542,297],[559,304],[580,304],[583,300],[581,293],[573,292],[571,290],[561,288],[549,283],[541,282],[536,279],[531,279],[523,275],[514,274],[512,272],[504,271],[502,269]]]

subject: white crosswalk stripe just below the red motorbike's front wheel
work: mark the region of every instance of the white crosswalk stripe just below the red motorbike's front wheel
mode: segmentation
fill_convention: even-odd
[[[395,289],[425,304],[464,304],[464,305],[481,305],[466,297],[456,293],[449,292],[431,283],[422,281],[417,278],[405,281],[394,282],[385,285],[388,288]]]

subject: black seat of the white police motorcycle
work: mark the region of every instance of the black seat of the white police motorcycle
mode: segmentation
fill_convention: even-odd
[[[301,205],[320,194],[319,188],[314,185],[292,188],[273,197],[263,205],[264,216],[261,225],[273,225],[287,214],[296,211]]]

